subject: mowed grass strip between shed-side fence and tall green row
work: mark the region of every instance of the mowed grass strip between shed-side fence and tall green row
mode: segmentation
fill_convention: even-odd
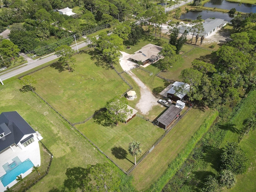
[[[190,109],[162,141],[132,171],[133,184],[138,191],[146,190],[182,152],[186,144],[209,116],[211,110]]]

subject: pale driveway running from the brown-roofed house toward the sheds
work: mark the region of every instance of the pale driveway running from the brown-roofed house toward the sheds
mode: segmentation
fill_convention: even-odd
[[[148,114],[148,111],[152,109],[153,106],[158,105],[157,98],[152,94],[150,89],[130,70],[132,66],[135,65],[134,62],[128,60],[130,54],[122,52],[123,56],[120,58],[120,65],[124,71],[129,74],[133,80],[140,87],[140,100],[136,104],[137,110],[141,114]]]

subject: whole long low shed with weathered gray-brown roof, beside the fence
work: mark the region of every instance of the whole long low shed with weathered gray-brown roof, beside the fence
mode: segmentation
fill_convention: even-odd
[[[157,120],[156,124],[167,129],[172,124],[172,122],[180,116],[182,110],[174,105],[171,105]]]

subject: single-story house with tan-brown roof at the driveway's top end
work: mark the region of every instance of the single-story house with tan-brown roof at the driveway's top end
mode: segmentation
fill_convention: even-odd
[[[148,62],[155,62],[161,57],[159,52],[162,49],[163,48],[160,46],[151,43],[147,44],[130,56],[130,60],[136,63],[141,61],[142,65],[145,65]]]

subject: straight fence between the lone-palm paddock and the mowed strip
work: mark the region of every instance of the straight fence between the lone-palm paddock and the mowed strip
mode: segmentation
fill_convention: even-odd
[[[142,162],[142,160],[155,148],[155,146],[166,136],[166,134],[168,134],[168,132],[170,130],[172,130],[172,128],[180,121],[180,119],[182,119],[182,117],[184,117],[184,115],[191,109],[192,107],[189,107],[175,122],[174,124],[172,124],[172,126],[170,126],[170,128],[168,128],[164,134],[162,134],[162,136],[160,136],[160,138],[158,138],[158,140],[156,140],[156,142],[154,142],[154,144],[138,159],[137,161],[137,165],[140,164],[140,162]],[[137,166],[136,165],[136,166]],[[130,172],[132,172],[132,170],[134,170],[134,168],[136,167],[135,165],[133,165],[132,167],[130,167],[130,169],[128,169],[127,174],[129,174]],[[162,190],[162,189],[161,189]]]

